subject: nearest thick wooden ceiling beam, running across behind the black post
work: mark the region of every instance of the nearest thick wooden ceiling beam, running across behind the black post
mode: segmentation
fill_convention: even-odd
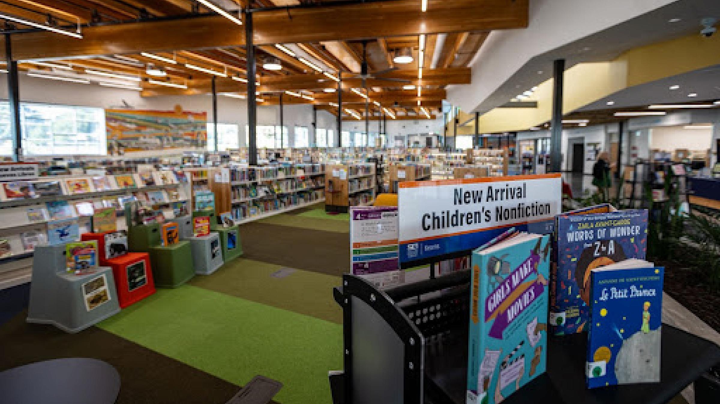
[[[114,6],[128,18],[138,14],[117,1],[89,1]],[[271,45],[361,40],[523,28],[528,24],[528,0],[429,0],[428,8],[433,12],[425,13],[417,3],[417,0],[395,0],[258,12],[253,17],[254,42]],[[14,35],[13,50],[16,58],[22,60],[233,48],[245,43],[242,27],[215,15],[87,27],[83,35],[82,40],[45,31]]]

